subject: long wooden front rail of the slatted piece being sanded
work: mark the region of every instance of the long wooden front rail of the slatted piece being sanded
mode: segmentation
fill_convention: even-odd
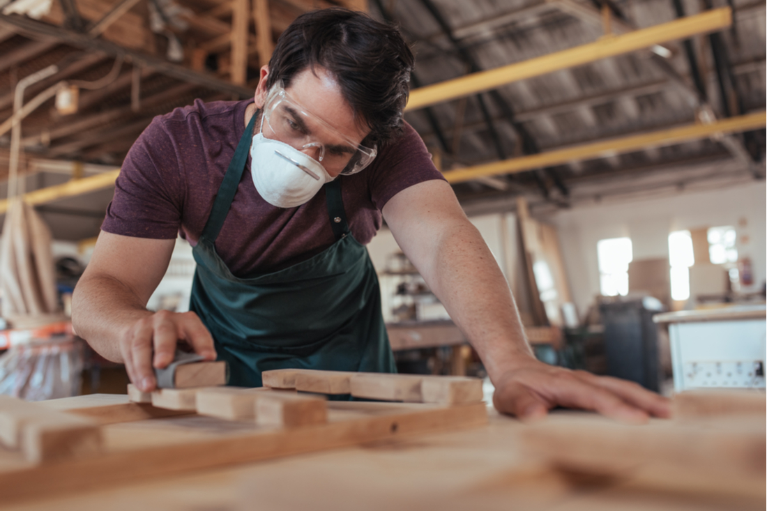
[[[374,413],[357,420],[331,421],[317,427],[269,429],[253,434],[232,434],[193,443],[133,450],[113,450],[104,456],[8,470],[0,465],[3,503],[46,497],[86,488],[104,489],[131,480],[156,480],[160,476],[216,466],[231,466],[353,446],[416,434],[463,430],[487,424],[484,404],[461,407],[400,406],[366,403]],[[374,407],[373,405],[378,405]],[[330,403],[329,407],[336,404]],[[390,412],[387,412],[390,410]]]

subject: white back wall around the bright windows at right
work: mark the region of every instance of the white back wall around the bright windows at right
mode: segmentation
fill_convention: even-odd
[[[630,236],[634,259],[648,259],[668,256],[672,231],[734,226],[738,254],[750,257],[753,264],[754,285],[742,291],[758,291],[767,278],[765,216],[765,183],[755,181],[722,190],[581,206],[546,221],[558,228],[573,300],[583,314],[599,294],[597,241],[604,238]]]

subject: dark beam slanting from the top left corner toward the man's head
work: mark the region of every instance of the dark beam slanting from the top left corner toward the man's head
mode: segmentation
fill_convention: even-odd
[[[110,41],[93,39],[85,34],[78,34],[77,32],[54,27],[46,23],[41,23],[40,21],[23,18],[21,16],[0,14],[0,26],[3,25],[11,25],[22,34],[30,34],[33,37],[55,38],[64,44],[91,51],[103,51],[112,57],[129,57],[133,61],[133,65],[138,65],[142,68],[152,68],[157,72],[174,77],[178,80],[202,85],[203,87],[208,87],[214,91],[235,94],[241,99],[251,97],[253,94],[252,89],[248,87],[230,84],[219,80],[219,78],[212,76],[211,74],[192,71],[189,68],[185,68],[183,65],[173,64],[164,61],[161,58],[123,48]]]

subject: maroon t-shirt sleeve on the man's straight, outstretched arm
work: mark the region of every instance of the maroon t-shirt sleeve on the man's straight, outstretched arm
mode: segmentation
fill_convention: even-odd
[[[382,148],[370,173],[370,198],[379,210],[389,199],[410,186],[424,181],[445,180],[436,169],[426,145],[410,124],[403,134]],[[364,172],[364,171],[363,171]]]

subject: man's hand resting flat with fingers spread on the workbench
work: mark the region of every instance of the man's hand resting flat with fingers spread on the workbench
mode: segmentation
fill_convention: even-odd
[[[494,384],[495,408],[522,420],[544,417],[557,406],[594,410],[634,424],[671,414],[666,397],[632,381],[558,368],[534,358],[508,368]]]

